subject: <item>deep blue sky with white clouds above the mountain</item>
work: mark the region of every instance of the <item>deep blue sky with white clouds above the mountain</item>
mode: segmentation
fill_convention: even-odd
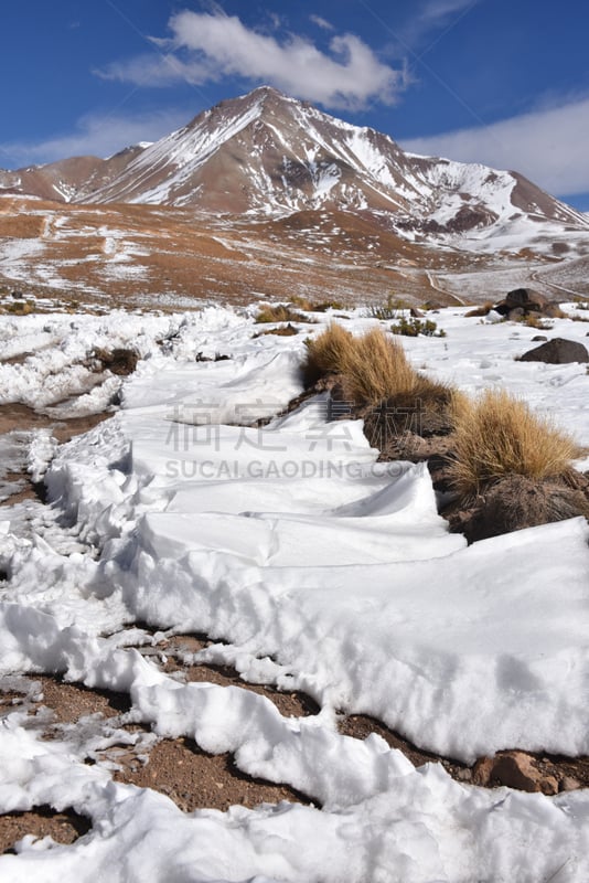
[[[21,0],[1,21],[3,168],[108,156],[268,83],[589,211],[581,0]]]

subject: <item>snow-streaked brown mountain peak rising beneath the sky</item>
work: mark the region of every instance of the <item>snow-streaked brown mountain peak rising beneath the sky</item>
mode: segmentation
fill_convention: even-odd
[[[109,160],[83,158],[28,171],[28,179],[0,173],[0,188],[36,187],[45,198],[51,188],[63,201],[215,214],[362,212],[379,215],[406,236],[433,238],[474,231],[504,235],[529,221],[589,227],[587,216],[515,172],[406,153],[386,135],[267,86],[222,102],[153,145]]]

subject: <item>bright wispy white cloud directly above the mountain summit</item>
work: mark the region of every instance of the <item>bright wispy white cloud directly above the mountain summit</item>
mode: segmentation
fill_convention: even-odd
[[[374,98],[394,104],[407,85],[403,71],[383,64],[354,34],[334,35],[324,53],[306,36],[289,34],[279,41],[219,10],[184,10],[172,15],[169,26],[171,40],[153,41],[162,49],[161,57],[115,63],[99,75],[140,86],[181,79],[199,85],[239,76],[328,107],[349,109],[360,109]]]

